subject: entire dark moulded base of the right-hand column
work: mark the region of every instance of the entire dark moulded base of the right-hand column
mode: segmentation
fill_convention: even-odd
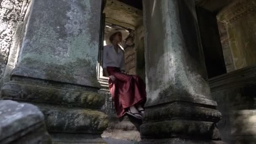
[[[220,141],[216,123],[221,113],[214,108],[184,101],[147,107],[140,126],[141,138]]]

